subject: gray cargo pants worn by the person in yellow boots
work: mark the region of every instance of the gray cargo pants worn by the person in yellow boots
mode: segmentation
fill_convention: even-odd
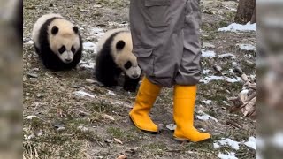
[[[133,53],[152,83],[198,83],[200,23],[199,0],[131,0]]]

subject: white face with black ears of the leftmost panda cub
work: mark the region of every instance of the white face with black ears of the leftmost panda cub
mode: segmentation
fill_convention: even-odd
[[[73,27],[70,24],[63,26],[61,22],[60,25],[59,27],[51,27],[50,49],[62,62],[69,64],[73,62],[75,53],[80,49],[79,31],[78,27]]]

